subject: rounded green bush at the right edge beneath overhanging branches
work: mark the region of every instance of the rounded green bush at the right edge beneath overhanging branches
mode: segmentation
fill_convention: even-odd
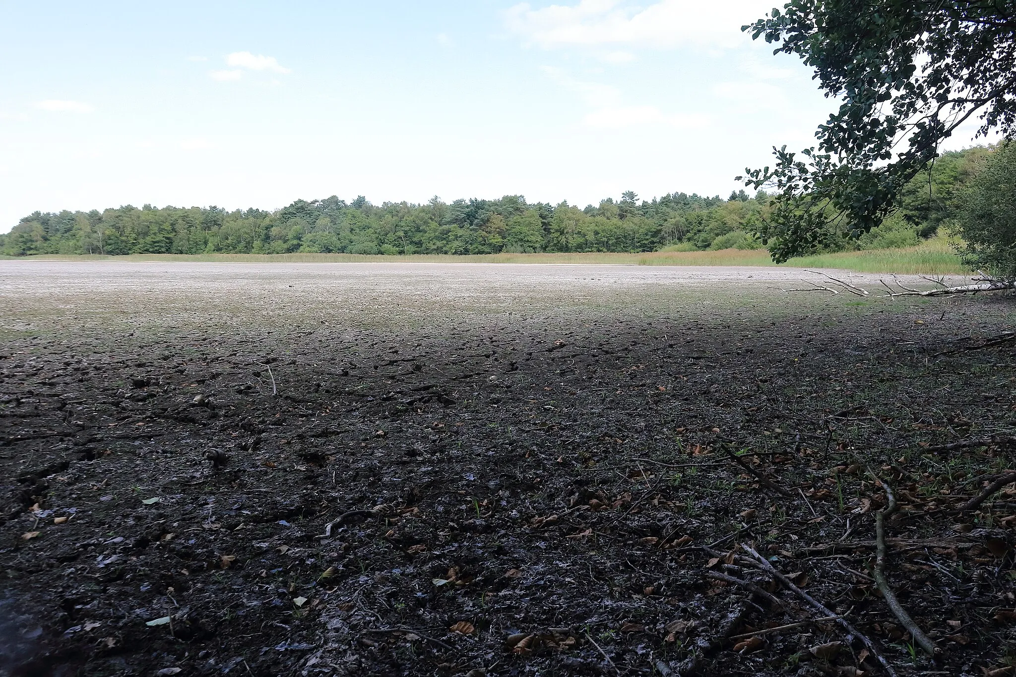
[[[1000,145],[958,196],[953,231],[963,263],[1016,280],[1016,144]]]

